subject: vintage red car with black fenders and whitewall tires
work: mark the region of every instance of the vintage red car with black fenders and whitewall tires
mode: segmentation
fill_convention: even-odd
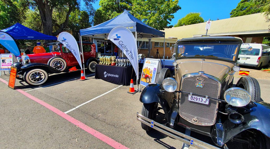
[[[72,67],[80,69],[75,56],[63,44],[53,42],[47,45],[51,52],[24,54],[21,59],[18,58],[18,62],[12,64],[17,67],[17,79],[24,80],[30,85],[41,85],[47,81],[48,74],[69,72]],[[90,72],[95,72],[95,65],[98,60],[94,43],[83,42],[83,56],[87,69]]]

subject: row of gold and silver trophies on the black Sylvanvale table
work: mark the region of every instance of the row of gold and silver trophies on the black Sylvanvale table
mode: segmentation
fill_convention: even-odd
[[[100,56],[99,63],[103,65],[112,66],[131,66],[130,61],[127,57],[116,57],[116,56]]]

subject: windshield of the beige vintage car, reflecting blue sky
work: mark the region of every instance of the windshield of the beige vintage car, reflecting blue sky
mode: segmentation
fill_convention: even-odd
[[[235,60],[238,45],[177,45],[178,57],[215,57]]]

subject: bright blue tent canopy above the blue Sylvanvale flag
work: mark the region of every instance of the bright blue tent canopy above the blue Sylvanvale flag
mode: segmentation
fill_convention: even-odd
[[[27,39],[27,40],[57,40],[55,36],[45,35],[43,33],[34,31],[27,28],[20,23],[16,23],[9,28],[1,31],[9,33],[14,39]]]

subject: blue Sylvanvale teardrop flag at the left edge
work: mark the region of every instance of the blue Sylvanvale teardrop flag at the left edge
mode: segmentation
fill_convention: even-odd
[[[21,57],[21,50],[14,38],[6,32],[0,31],[0,44],[16,57]]]

